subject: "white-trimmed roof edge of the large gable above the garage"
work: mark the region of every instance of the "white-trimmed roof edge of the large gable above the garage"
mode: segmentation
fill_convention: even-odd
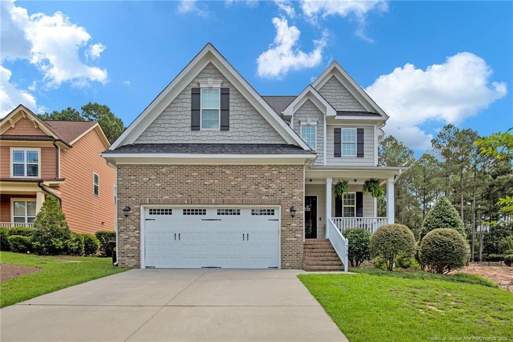
[[[211,43],[205,47],[187,64],[187,66],[168,84],[164,90],[135,118],[123,134],[109,147],[132,144],[137,137],[155,120],[157,116],[176,98],[176,96],[192,81],[192,79],[208,63],[212,63],[241,92],[249,103],[266,119],[288,144],[294,144],[310,150],[308,145],[296,132],[278,115],[277,112],[251,87],[242,75],[214,48]]]

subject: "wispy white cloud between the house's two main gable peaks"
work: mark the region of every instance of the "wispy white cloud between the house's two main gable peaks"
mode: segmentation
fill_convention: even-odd
[[[323,32],[321,39],[313,41],[314,49],[306,53],[299,48],[301,31],[297,27],[289,27],[284,17],[274,17],[272,23],[276,28],[274,43],[257,59],[260,77],[282,79],[290,70],[311,68],[321,63],[327,31]]]

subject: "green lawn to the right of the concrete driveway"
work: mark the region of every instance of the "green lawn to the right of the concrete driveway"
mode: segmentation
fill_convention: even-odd
[[[504,290],[396,274],[298,277],[350,341],[513,338],[513,294]]]

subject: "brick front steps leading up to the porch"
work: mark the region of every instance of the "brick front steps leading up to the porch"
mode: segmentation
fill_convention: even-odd
[[[305,271],[344,271],[337,252],[328,239],[305,239]]]

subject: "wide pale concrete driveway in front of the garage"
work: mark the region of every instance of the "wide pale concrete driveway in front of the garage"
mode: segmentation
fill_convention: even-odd
[[[131,270],[0,310],[9,340],[347,341],[298,270]]]

